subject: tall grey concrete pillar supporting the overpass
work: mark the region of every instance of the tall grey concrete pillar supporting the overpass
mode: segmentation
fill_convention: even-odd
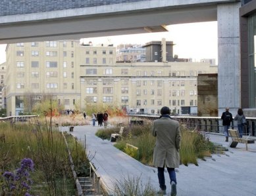
[[[218,116],[241,106],[240,22],[241,3],[220,4],[218,20]]]

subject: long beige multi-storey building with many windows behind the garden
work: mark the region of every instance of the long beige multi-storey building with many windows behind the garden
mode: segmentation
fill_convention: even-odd
[[[158,113],[163,106],[188,113],[197,108],[197,74],[217,73],[200,62],[116,63],[115,47],[45,41],[7,45],[7,115],[24,111],[24,97],[51,96],[65,109],[87,103]]]

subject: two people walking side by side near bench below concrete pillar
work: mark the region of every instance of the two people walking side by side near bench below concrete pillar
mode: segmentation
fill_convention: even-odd
[[[222,125],[224,127],[224,135],[226,137],[226,142],[228,142],[228,129],[230,128],[231,122],[238,121],[238,132],[240,135],[240,138],[243,136],[243,127],[246,124],[245,115],[243,115],[243,109],[239,108],[238,113],[236,114],[236,117],[232,117],[232,113],[230,113],[229,108],[226,108],[226,111],[224,111],[221,115],[222,119]]]

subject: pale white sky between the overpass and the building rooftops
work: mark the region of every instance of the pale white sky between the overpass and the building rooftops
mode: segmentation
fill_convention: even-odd
[[[218,35],[217,22],[199,22],[192,24],[176,24],[168,26],[168,32],[163,33],[141,33],[134,35],[118,35],[108,37],[94,37],[83,39],[88,43],[111,43],[118,44],[141,44],[150,41],[173,41],[174,54],[178,58],[192,58],[198,62],[203,58],[215,58],[218,62]],[[5,62],[5,47],[0,45],[0,64]]]

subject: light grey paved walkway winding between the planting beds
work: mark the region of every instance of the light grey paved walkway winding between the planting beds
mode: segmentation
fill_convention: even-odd
[[[156,168],[147,167],[132,159],[122,151],[116,149],[109,140],[101,140],[95,136],[99,127],[80,126],[74,127],[72,135],[76,136],[84,144],[86,135],[86,151],[91,162],[97,168],[103,183],[109,190],[114,189],[117,181],[124,178],[140,178],[143,184],[150,182],[153,187],[159,189]],[[68,127],[59,127],[68,131]],[[211,141],[223,144],[224,136],[207,134]],[[231,138],[230,138],[231,140]],[[252,196],[256,195],[256,144],[238,144],[238,147],[230,148],[224,155],[214,154],[207,161],[199,160],[199,166],[181,165],[176,172],[177,195],[189,196]],[[168,173],[165,172],[167,192],[170,194]]]

